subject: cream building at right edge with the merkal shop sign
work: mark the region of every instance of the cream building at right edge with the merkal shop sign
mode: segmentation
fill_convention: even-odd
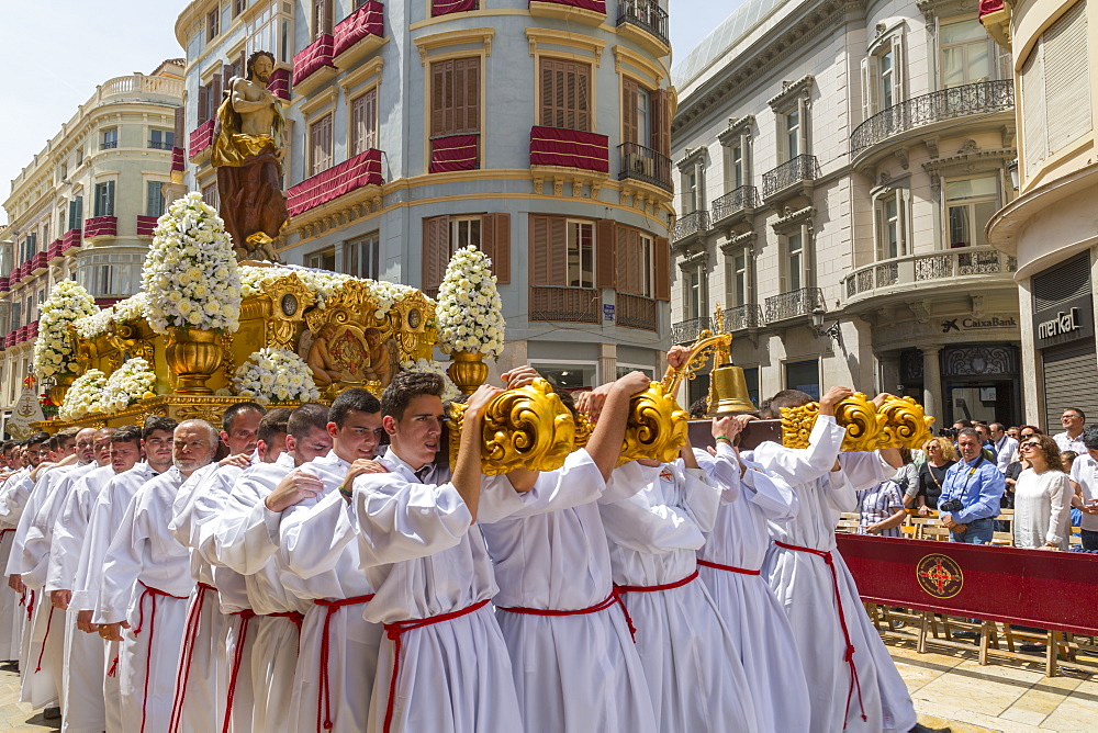
[[[1087,0],[985,2],[988,33],[1013,58],[1018,196],[987,238],[1017,258],[1026,420],[1058,432],[1066,407],[1098,420],[1098,19]]]

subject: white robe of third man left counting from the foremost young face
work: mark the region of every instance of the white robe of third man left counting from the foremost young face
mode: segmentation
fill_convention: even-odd
[[[210,534],[210,541],[202,544],[209,548],[211,561],[243,574],[248,604],[259,614],[254,621],[251,644],[251,723],[257,733],[285,730],[294,689],[298,624],[291,618],[273,614],[304,616],[313,606],[288,593],[282,585],[278,556],[281,515],[264,506],[264,500],[293,467],[293,458],[282,453],[273,463],[259,463],[246,470],[234,484],[224,511],[203,530]]]

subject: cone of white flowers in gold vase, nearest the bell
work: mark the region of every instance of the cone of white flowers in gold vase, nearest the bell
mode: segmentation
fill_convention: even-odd
[[[442,353],[503,353],[503,303],[495,289],[492,260],[475,247],[453,252],[438,289],[438,347]]]

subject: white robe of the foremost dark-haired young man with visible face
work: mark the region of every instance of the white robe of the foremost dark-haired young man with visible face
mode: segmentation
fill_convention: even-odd
[[[393,733],[520,730],[507,645],[488,607],[498,587],[480,527],[471,523],[452,484],[419,483],[392,450],[380,461],[391,473],[355,480],[336,535],[354,534],[361,571],[377,588],[366,605],[367,621],[415,622],[466,612],[399,634],[395,679],[395,642],[382,640],[366,730],[384,730],[391,686]],[[483,486],[479,521],[502,519],[526,504],[505,478],[486,480]]]

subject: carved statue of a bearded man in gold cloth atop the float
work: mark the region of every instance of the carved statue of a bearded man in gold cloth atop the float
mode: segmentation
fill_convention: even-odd
[[[217,109],[211,162],[221,217],[238,256],[278,261],[272,246],[289,214],[282,194],[282,104],[268,89],[274,56],[257,50],[247,76],[234,77]]]

